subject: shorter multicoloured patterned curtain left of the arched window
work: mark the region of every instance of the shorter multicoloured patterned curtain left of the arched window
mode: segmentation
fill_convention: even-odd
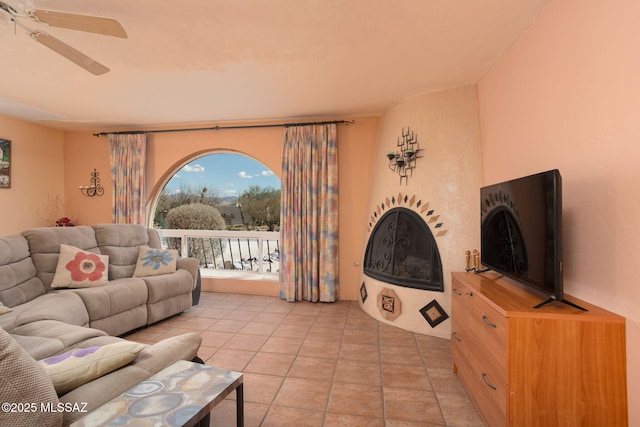
[[[145,224],[146,152],[145,134],[109,135],[114,224]]]

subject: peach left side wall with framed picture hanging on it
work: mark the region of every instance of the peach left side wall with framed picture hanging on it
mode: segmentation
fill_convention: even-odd
[[[11,188],[0,189],[0,235],[50,225],[58,216],[56,197],[62,206],[65,196],[63,133],[0,115],[0,138],[11,141]]]

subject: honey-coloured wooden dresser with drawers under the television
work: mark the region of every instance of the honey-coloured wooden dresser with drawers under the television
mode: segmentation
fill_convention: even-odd
[[[625,319],[496,273],[452,273],[453,369],[490,427],[627,426]]]

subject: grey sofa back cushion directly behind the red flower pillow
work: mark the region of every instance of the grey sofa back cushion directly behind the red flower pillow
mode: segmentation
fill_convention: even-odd
[[[93,228],[86,225],[32,228],[24,231],[22,235],[29,242],[36,275],[42,280],[47,290],[51,289],[51,282],[56,273],[61,244],[100,254],[95,232]]]

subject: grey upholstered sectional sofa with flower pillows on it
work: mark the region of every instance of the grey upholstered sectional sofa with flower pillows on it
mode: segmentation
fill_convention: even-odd
[[[53,288],[61,245],[108,255],[108,283]],[[191,307],[198,260],[178,258],[175,271],[140,276],[141,247],[160,248],[158,233],[131,224],[34,228],[0,237],[0,396],[14,404],[14,411],[0,412],[0,425],[69,424],[173,362],[196,357],[201,337],[195,333],[139,346],[132,362],[64,393],[56,392],[38,362],[125,341],[119,336]],[[49,401],[64,410],[25,412],[18,405]]]

